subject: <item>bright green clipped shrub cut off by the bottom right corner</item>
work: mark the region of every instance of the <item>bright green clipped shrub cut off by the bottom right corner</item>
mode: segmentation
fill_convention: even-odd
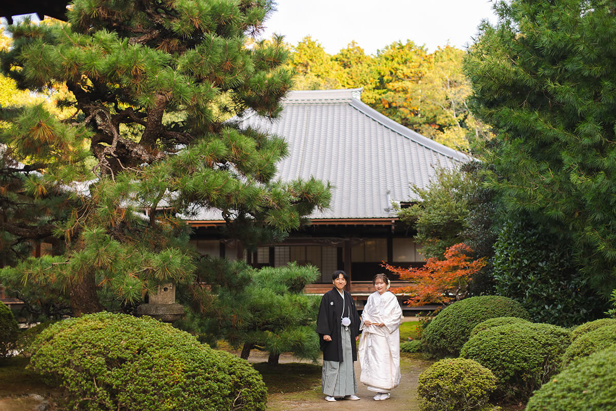
[[[526,411],[616,410],[616,348],[573,362],[530,397]]]

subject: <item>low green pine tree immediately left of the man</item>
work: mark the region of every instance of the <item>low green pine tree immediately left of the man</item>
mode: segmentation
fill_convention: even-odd
[[[252,269],[245,262],[205,258],[201,287],[195,283],[184,296],[190,311],[179,325],[208,343],[224,338],[241,348],[248,359],[257,349],[269,353],[277,365],[283,352],[316,360],[320,350],[315,330],[319,296],[304,294],[318,277],[318,269],[298,266]]]

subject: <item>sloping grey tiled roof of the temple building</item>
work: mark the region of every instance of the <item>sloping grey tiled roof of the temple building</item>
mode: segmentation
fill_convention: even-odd
[[[290,155],[278,164],[283,181],[314,176],[333,185],[330,209],[320,218],[387,218],[392,201],[416,198],[434,166],[453,168],[471,158],[376,112],[359,100],[361,89],[295,91],[270,120],[248,113],[239,120],[285,138]],[[211,211],[191,219],[219,219]]]

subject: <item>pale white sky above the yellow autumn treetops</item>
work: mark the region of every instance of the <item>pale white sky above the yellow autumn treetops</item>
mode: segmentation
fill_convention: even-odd
[[[472,43],[477,26],[496,17],[490,0],[277,0],[262,37],[285,36],[296,45],[304,36],[337,54],[355,40],[366,54],[410,39],[429,51],[449,43]]]

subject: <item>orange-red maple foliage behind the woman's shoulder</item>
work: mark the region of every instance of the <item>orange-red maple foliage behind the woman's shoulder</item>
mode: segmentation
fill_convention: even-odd
[[[408,306],[422,304],[451,304],[466,297],[468,284],[474,274],[485,266],[485,258],[472,259],[472,249],[458,243],[447,248],[445,259],[429,258],[420,268],[394,267],[383,264],[387,270],[407,280],[407,287],[394,288],[392,291],[409,296]]]

